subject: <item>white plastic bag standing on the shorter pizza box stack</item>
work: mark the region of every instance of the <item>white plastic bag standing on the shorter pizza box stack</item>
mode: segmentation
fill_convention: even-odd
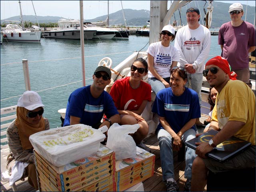
[[[136,143],[130,133],[135,133],[139,124],[135,125],[119,125],[114,123],[108,130],[108,140],[106,147],[114,150],[116,160],[123,160],[126,158],[135,158]]]

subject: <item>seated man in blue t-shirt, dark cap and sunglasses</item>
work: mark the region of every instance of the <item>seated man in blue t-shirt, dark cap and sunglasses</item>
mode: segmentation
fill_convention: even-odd
[[[68,98],[64,126],[85,124],[92,128],[113,123],[120,123],[120,115],[112,97],[104,88],[110,84],[111,71],[105,66],[98,66],[92,76],[93,83],[72,92]],[[101,123],[103,115],[105,121]]]

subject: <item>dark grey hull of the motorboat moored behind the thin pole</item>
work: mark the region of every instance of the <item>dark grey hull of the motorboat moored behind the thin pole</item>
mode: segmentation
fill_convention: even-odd
[[[92,39],[94,33],[96,33],[96,30],[84,31],[84,39]],[[80,30],[45,31],[43,36],[56,39],[80,39]]]

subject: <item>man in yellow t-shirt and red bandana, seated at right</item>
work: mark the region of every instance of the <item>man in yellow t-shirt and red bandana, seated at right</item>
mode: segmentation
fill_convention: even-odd
[[[198,142],[198,155],[192,166],[191,191],[203,191],[208,170],[213,173],[255,167],[255,95],[244,82],[234,79],[228,61],[221,56],[210,59],[203,71],[210,86],[218,91],[210,129],[219,132],[209,142]],[[231,79],[231,80],[230,80]],[[231,136],[251,142],[250,148],[226,162],[206,157],[206,153]]]

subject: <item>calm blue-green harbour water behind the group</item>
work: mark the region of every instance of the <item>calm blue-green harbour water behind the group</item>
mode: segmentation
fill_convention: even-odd
[[[218,36],[211,36],[211,38],[212,45],[208,60],[221,53]],[[112,68],[114,68],[134,50],[147,50],[148,42],[149,37],[135,35],[130,36],[129,40],[85,41],[86,85],[92,83],[92,74],[102,58],[110,57],[113,61]],[[82,87],[80,57],[80,40],[41,39],[40,44],[4,41],[0,47],[1,108],[16,105],[18,98],[25,91],[22,59],[27,59],[31,90],[40,91],[38,94],[46,106],[44,117],[49,119],[50,128],[60,127],[58,110],[66,108],[71,92]],[[58,60],[64,58],[69,59]],[[61,86],[64,84],[68,85]]]

